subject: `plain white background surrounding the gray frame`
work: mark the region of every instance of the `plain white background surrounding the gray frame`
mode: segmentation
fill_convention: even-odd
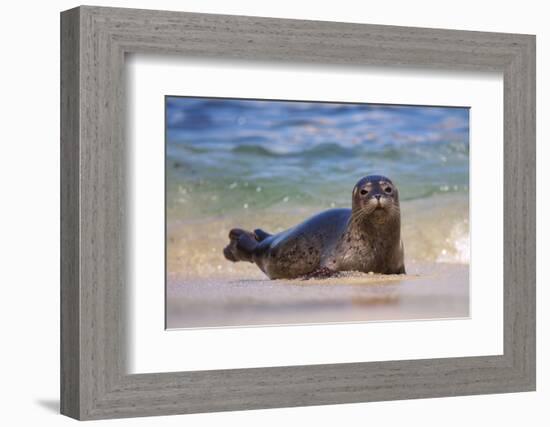
[[[538,215],[550,192],[550,27],[543,1],[189,0],[97,5],[537,34]],[[4,2],[0,65],[0,376],[4,425],[71,422],[57,414],[59,360],[59,11],[74,1]],[[544,95],[544,96],[543,96]],[[544,161],[546,160],[546,162]],[[529,191],[526,189],[526,191]],[[111,421],[111,425],[548,425],[548,223],[538,224],[538,392]],[[6,238],[7,237],[7,238]],[[7,337],[7,339],[6,339]],[[546,418],[546,420],[545,420]]]

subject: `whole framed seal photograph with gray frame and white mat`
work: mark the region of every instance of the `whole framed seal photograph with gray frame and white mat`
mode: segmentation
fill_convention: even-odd
[[[61,14],[61,411],[535,389],[535,37]]]

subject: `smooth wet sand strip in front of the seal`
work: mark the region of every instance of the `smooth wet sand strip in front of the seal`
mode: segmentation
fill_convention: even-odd
[[[357,272],[314,280],[268,280],[257,267],[208,278],[172,275],[167,327],[229,327],[469,316],[466,264],[414,262],[407,275]]]

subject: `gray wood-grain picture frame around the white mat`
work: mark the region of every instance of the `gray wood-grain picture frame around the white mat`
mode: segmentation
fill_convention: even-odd
[[[127,374],[130,52],[502,72],[504,354]],[[535,389],[534,36],[84,6],[61,14],[61,122],[63,414],[99,419]]]

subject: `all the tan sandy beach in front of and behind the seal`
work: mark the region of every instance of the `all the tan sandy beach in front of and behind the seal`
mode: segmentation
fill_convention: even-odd
[[[439,203],[438,203],[439,202]],[[469,316],[468,223],[452,195],[404,202],[406,275],[347,272],[319,280],[269,280],[251,263],[231,263],[228,230],[282,230],[312,209],[173,221],[168,229],[168,328],[313,324]]]

